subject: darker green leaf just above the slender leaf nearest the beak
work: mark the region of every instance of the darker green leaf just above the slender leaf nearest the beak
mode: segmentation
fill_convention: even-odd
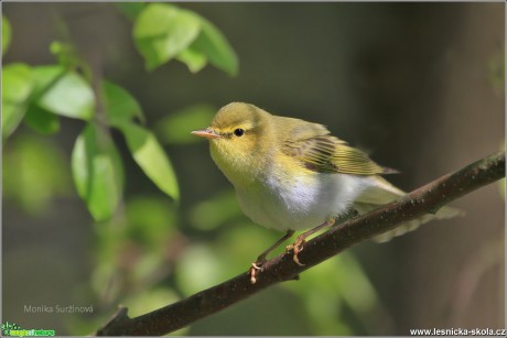
[[[144,123],[144,116],[138,101],[120,86],[103,81],[104,105],[110,126],[120,126],[130,122],[133,118]]]

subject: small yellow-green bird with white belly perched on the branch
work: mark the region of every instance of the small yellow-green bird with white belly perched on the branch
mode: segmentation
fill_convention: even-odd
[[[379,176],[397,171],[375,163],[331,135],[324,126],[274,116],[254,105],[229,103],[218,110],[208,128],[192,133],[209,140],[212,157],[234,185],[242,211],[258,225],[285,231],[251,264],[252,284],[269,252],[294,231],[310,229],[287,247],[293,250],[293,261],[303,265],[298,253],[309,236],[350,210],[364,214],[406,194]],[[459,214],[444,207],[378,240]]]

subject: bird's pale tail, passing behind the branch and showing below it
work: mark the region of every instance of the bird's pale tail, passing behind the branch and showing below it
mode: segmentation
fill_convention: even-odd
[[[355,201],[354,209],[359,214],[368,212],[373,209],[378,208],[381,205],[390,203],[395,199],[406,195],[403,190],[397,188],[380,176],[373,177],[374,184],[371,184]],[[464,212],[460,209],[451,207],[442,207],[436,214],[427,214],[422,217],[412,219],[404,222],[400,227],[379,235],[374,238],[377,242],[386,242],[396,236],[401,236],[406,232],[416,230],[420,225],[425,223],[433,219],[449,219],[456,216],[462,216]]]

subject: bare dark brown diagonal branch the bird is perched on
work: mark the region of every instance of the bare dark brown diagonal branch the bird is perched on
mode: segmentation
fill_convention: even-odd
[[[365,239],[392,230],[402,222],[434,212],[450,201],[479,187],[505,177],[505,154],[497,153],[447,174],[407,196],[371,212],[349,219],[309,241],[299,258],[306,265],[299,266],[292,254],[270,260],[250,284],[245,272],[227,282],[204,290],[186,299],[149,314],[129,318],[121,308],[98,336],[160,336],[183,328],[273,284],[298,279],[298,275],[322,261],[338,254]]]

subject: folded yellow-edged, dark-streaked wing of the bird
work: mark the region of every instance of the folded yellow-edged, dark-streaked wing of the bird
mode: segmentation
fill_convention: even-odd
[[[320,173],[375,175],[395,172],[378,165],[360,150],[330,135],[325,128],[324,130],[327,134],[287,139],[282,152],[300,160],[306,168]]]

